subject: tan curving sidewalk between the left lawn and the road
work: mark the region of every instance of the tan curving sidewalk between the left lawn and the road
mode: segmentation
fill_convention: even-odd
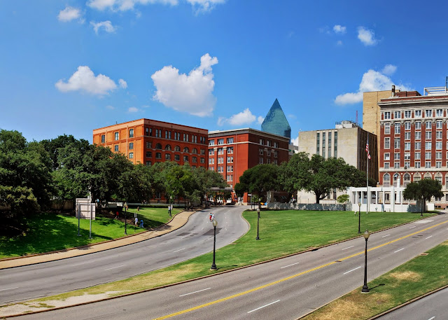
[[[48,253],[38,253],[31,256],[1,259],[0,270],[8,267],[21,267],[23,265],[34,265],[36,263],[83,256],[84,254],[118,248],[119,246],[127,246],[128,244],[134,244],[154,237],[159,237],[160,235],[165,235],[181,228],[187,223],[188,218],[190,218],[190,216],[195,212],[197,211],[182,211],[181,213],[176,214],[176,216],[174,216],[172,220],[168,221],[165,225],[161,225],[153,230],[138,233],[137,235],[128,235],[123,238],[113,239],[106,242],[87,244],[86,246],[78,246],[76,248],[52,251]]]

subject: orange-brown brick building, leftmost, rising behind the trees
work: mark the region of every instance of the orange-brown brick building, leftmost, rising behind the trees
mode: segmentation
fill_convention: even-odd
[[[139,119],[93,130],[93,143],[123,153],[134,164],[174,161],[207,168],[208,130]]]

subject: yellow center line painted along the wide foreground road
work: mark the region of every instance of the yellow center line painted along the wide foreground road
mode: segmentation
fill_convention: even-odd
[[[433,225],[433,226],[428,227],[428,228],[426,228],[426,229],[419,230],[419,231],[417,231],[417,232],[411,233],[410,235],[405,235],[404,237],[400,237],[400,238],[398,238],[398,239],[395,239],[395,240],[386,242],[385,244],[380,244],[379,246],[374,246],[372,249],[368,249],[367,251],[372,251],[372,250],[381,248],[381,246],[386,246],[387,244],[392,244],[393,242],[397,242],[397,241],[402,240],[402,239],[405,239],[405,238],[407,238],[407,237],[411,237],[412,235],[416,235],[417,233],[424,232],[424,231],[429,230],[429,229],[431,229],[431,228],[435,228],[435,227],[437,227],[438,225],[442,225],[442,224],[444,224],[444,223],[448,223],[448,221],[444,221],[444,222],[442,222],[442,223],[437,223],[436,225]],[[351,256],[346,256],[345,258],[341,258],[341,259],[339,259],[338,261],[344,261],[344,260],[347,260],[347,259],[349,259],[349,258],[353,258],[353,257],[355,257],[355,256],[359,256],[360,254],[363,254],[363,253],[364,253],[364,251],[361,251],[361,252],[359,252],[359,253],[352,254]],[[303,275],[303,274],[307,274],[307,273],[309,273],[309,272],[311,272],[311,271],[318,270],[318,269],[321,269],[321,268],[323,268],[323,267],[328,267],[329,265],[334,265],[335,263],[336,263],[336,261],[332,261],[332,262],[330,262],[330,263],[326,263],[325,265],[319,265],[318,267],[314,267],[314,268],[312,268],[312,269],[309,269],[309,270],[306,270],[306,271],[303,271],[303,272],[300,272],[300,273],[297,273],[297,274],[293,274],[293,275],[290,276],[290,277],[286,277],[286,278],[283,278],[283,279],[280,279],[280,280],[271,282],[271,283],[269,283],[269,284],[265,284],[265,285],[263,285],[263,286],[258,286],[257,288],[252,288],[251,290],[248,290],[248,291],[240,292],[240,293],[237,293],[237,294],[235,294],[235,295],[230,295],[230,296],[228,296],[228,297],[225,297],[225,298],[222,298],[222,299],[219,299],[219,300],[215,300],[215,301],[211,301],[211,302],[208,302],[208,303],[204,303],[204,305],[197,305],[196,307],[193,307],[193,308],[190,308],[190,309],[185,309],[185,310],[176,312],[176,313],[174,313],[174,314],[168,314],[167,316],[160,316],[160,318],[156,318],[155,320],[168,319],[168,318],[171,318],[172,316],[179,316],[179,314],[184,314],[184,313],[191,312],[191,311],[194,311],[194,310],[197,310],[197,309],[202,309],[203,307],[208,307],[209,305],[214,305],[214,304],[216,304],[216,303],[218,303],[218,302],[223,302],[223,301],[226,301],[226,300],[230,300],[230,299],[233,299],[233,298],[237,298],[237,297],[239,297],[239,296],[241,296],[241,295],[245,295],[245,294],[247,294],[247,293],[251,293],[251,292],[254,292],[254,291],[258,291],[258,290],[260,290],[260,289],[267,288],[268,286],[273,286],[274,284],[279,284],[279,283],[281,283],[281,282],[283,282],[283,281],[287,281],[287,280],[293,279],[293,278],[295,278],[295,277],[299,277],[299,276],[301,276],[301,275]]]

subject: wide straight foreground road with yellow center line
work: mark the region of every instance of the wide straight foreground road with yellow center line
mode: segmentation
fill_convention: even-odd
[[[367,280],[447,237],[447,214],[372,234]],[[186,284],[19,319],[297,319],[362,286],[364,246],[359,237]]]

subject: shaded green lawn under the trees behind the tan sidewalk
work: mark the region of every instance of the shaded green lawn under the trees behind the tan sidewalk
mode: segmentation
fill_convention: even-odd
[[[157,227],[169,221],[166,208],[142,208],[137,213],[139,221],[143,219],[145,229],[134,228],[132,220],[134,211],[127,214],[127,234],[142,232],[146,228]],[[179,213],[173,209],[173,214]],[[124,214],[120,215],[124,218]],[[124,221],[97,216],[92,221],[92,239],[89,239],[90,220],[80,220],[80,237],[78,237],[78,219],[74,216],[60,214],[38,214],[27,218],[27,232],[17,237],[0,237],[0,258],[26,256],[34,253],[73,248],[116,239],[125,236]]]

